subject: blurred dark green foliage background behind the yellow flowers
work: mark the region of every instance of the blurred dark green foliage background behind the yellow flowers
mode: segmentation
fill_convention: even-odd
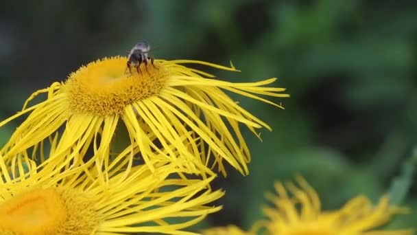
[[[232,60],[242,73],[215,71],[224,80],[279,78],[285,111],[235,96],[274,131],[263,142],[247,133],[250,175],[230,169],[215,181],[224,210],[200,227],[248,229],[274,181],[296,173],[324,209],[358,194],[377,200],[399,177],[397,201],[417,210],[406,164],[417,137],[416,1],[10,1],[0,12],[1,119],[36,89],[143,40],[156,58]],[[13,128],[1,129],[2,143]]]

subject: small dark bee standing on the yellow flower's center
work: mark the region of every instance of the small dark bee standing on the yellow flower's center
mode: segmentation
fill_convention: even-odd
[[[127,69],[129,69],[130,74],[132,73],[132,67],[136,68],[136,71],[138,71],[139,74],[139,70],[141,69],[141,63],[145,63],[146,71],[148,63],[151,63],[152,66],[156,68],[154,65],[154,58],[152,58],[152,56],[149,55],[150,50],[150,44],[145,41],[136,43],[136,45],[134,45],[134,47],[130,50],[127,63]]]

